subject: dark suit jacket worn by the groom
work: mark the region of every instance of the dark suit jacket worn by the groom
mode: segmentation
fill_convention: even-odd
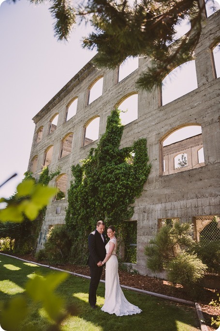
[[[104,234],[103,237],[104,237],[104,242],[101,237],[101,234],[97,230],[91,232],[88,236],[89,256],[88,256],[87,264],[91,267],[97,266],[97,263],[99,261],[103,261],[105,258],[106,239]]]

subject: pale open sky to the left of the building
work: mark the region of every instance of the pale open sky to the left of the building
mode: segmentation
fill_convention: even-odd
[[[48,3],[0,0],[0,184],[17,173],[0,187],[0,197],[13,195],[27,171],[33,116],[96,53],[81,47],[85,27],[75,29],[68,43],[58,42],[48,8]]]

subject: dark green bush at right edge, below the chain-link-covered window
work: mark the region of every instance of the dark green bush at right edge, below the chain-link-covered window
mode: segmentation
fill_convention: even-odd
[[[201,240],[193,246],[193,250],[207,265],[208,272],[220,274],[220,241]]]

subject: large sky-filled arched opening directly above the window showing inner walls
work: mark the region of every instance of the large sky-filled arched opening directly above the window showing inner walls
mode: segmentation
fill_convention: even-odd
[[[198,87],[195,61],[188,61],[173,69],[162,81],[162,105]]]

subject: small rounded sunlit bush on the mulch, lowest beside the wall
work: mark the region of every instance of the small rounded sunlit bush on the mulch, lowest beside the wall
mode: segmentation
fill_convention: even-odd
[[[168,263],[167,269],[168,281],[191,287],[204,276],[207,267],[195,254],[182,251]]]

